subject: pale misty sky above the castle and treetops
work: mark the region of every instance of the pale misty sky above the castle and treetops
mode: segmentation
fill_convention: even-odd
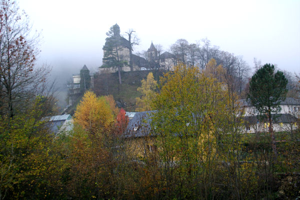
[[[167,51],[177,39],[195,43],[207,37],[221,50],[242,55],[253,67],[277,64],[300,73],[300,1],[66,1],[19,0],[32,29],[42,35],[38,63],[67,79],[85,64],[102,64],[105,33],[117,23],[121,34],[136,31],[140,46],[151,41]]]

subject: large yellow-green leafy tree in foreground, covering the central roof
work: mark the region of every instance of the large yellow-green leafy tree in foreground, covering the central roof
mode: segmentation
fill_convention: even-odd
[[[213,60],[211,67],[217,68]],[[166,185],[162,187],[170,198],[175,192],[193,199],[209,198],[214,195],[211,188],[218,184],[214,176],[220,174],[218,161],[230,154],[226,161],[236,163],[233,152],[237,150],[235,134],[240,125],[234,113],[237,104],[222,83],[194,66],[175,66],[160,79],[158,90],[152,101],[156,112],[151,127],[163,166]],[[229,167],[227,171],[229,174]]]

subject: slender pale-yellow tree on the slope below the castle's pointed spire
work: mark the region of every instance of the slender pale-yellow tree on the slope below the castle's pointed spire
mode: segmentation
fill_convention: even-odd
[[[137,88],[137,91],[142,94],[142,97],[136,97],[136,106],[135,111],[148,111],[151,110],[151,101],[154,98],[154,90],[156,89],[157,81],[154,80],[152,72],[147,75],[146,80],[141,81],[141,86]]]

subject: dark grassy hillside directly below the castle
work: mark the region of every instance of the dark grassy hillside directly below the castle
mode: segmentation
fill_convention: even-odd
[[[135,98],[141,95],[136,89],[141,86],[141,80],[146,79],[149,72],[153,73],[157,82],[163,75],[163,71],[160,70],[122,72],[122,85],[120,85],[117,73],[95,74],[93,91],[97,96],[112,95],[118,107],[134,112]]]

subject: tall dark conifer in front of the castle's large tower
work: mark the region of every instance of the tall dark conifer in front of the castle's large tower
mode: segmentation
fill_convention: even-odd
[[[121,68],[127,64],[126,61],[123,61],[121,52],[123,48],[130,49],[131,47],[129,47],[128,42],[120,36],[120,28],[117,24],[110,27],[106,35],[108,37],[105,39],[106,42],[103,46],[104,56],[102,67],[117,67],[119,84],[121,85]]]

